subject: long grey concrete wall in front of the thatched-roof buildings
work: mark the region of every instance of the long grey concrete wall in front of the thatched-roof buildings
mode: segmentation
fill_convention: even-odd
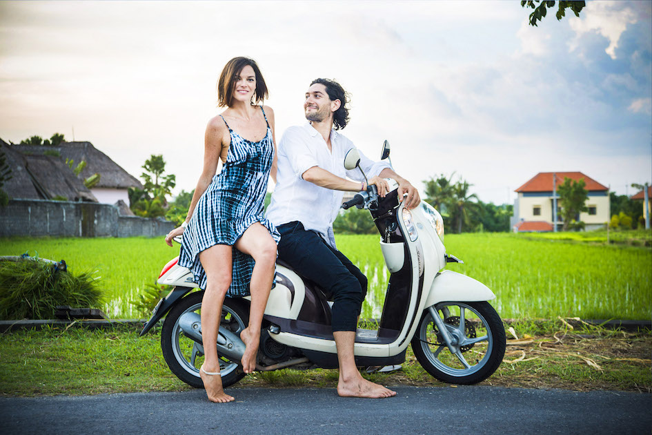
[[[0,206],[0,237],[157,237],[174,228],[163,218],[123,216],[117,206],[95,202],[10,200]]]

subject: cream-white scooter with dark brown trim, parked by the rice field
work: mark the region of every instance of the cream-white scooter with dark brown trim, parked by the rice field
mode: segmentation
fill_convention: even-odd
[[[385,142],[382,158],[388,155]],[[344,166],[359,168],[359,160],[353,149]],[[502,321],[486,302],[495,295],[473,278],[442,270],[446,262],[462,262],[446,254],[442,216],[424,201],[415,209],[406,209],[397,197],[397,184],[388,181],[394,190],[386,197],[379,197],[372,185],[342,205],[371,213],[391,273],[378,328],[357,329],[356,363],[403,363],[411,344],[419,363],[438,380],[479,383],[493,374],[505,353]],[[199,367],[204,348],[199,313],[204,291],[192,291],[197,287],[192,272],[179,267],[177,258],[166,264],[158,282],[174,289],[159,301],[141,336],[167,313],[161,331],[166,363],[179,379],[201,388]],[[225,387],[245,376],[240,365],[245,345],[239,333],[248,324],[248,305],[248,298],[224,300],[216,345]],[[327,297],[315,282],[281,261],[277,262],[276,286],[270,293],[263,328],[257,370],[338,367]]]

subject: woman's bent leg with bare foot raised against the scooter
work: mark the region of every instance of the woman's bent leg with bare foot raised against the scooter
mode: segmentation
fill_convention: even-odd
[[[269,231],[259,222],[256,222],[246,229],[244,234],[235,242],[235,247],[239,251],[251,255],[256,262],[249,284],[251,293],[249,325],[240,333],[240,338],[246,345],[244,356],[242,356],[242,369],[245,373],[251,373],[256,369],[256,356],[260,344],[260,326],[274,280],[276,242]]]

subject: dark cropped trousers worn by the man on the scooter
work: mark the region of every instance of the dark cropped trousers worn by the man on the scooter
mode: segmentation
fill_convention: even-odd
[[[281,234],[279,259],[313,280],[333,300],[333,332],[355,331],[367,294],[367,278],[343,253],[324,242],[301,222],[277,226]]]

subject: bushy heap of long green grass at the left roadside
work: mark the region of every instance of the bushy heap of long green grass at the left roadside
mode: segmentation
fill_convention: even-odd
[[[101,291],[92,274],[41,260],[0,261],[0,320],[54,318],[58,305],[97,308]]]

